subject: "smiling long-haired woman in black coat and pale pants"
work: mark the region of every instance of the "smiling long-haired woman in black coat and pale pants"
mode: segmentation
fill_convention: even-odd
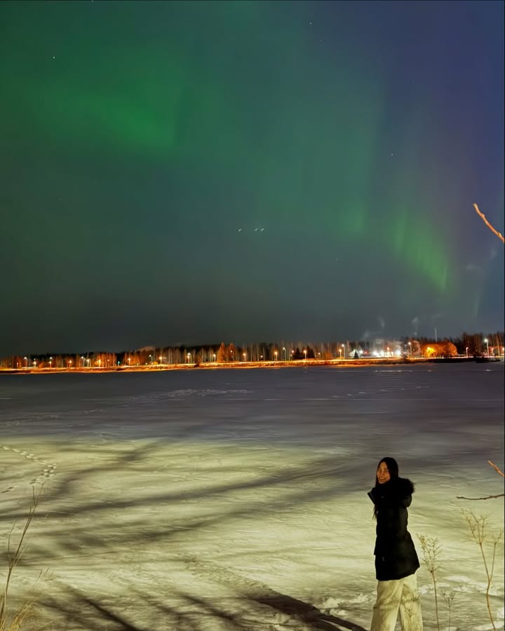
[[[414,484],[398,477],[398,464],[383,458],[377,466],[375,487],[368,493],[377,519],[375,574],[377,602],[370,631],[393,631],[400,609],[403,631],[422,631],[421,606],[415,572],[419,559],[407,530]]]

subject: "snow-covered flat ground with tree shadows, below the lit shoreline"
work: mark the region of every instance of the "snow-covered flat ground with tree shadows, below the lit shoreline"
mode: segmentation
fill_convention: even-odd
[[[503,423],[502,362],[0,376],[3,550],[43,483],[13,595],[49,569],[38,621],[57,631],[368,629],[366,493],[393,456],[416,484],[419,557],[417,534],[442,546],[440,628],[440,592],[454,591],[452,631],[490,629],[461,510],[498,530],[504,501],[456,496],[503,493],[487,464],[503,469]],[[503,552],[501,541],[497,628]],[[417,576],[436,629],[429,573]]]

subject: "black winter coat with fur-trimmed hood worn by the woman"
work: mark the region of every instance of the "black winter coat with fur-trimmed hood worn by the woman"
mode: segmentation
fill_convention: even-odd
[[[377,484],[368,496],[377,507],[375,574],[377,581],[393,581],[414,574],[419,567],[412,537],[407,530],[408,506],[414,484],[404,477]]]

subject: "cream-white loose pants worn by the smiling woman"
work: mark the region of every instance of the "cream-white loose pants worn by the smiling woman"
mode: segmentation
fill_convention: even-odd
[[[370,631],[394,631],[400,609],[403,631],[422,631],[421,604],[415,574],[398,581],[378,581]]]

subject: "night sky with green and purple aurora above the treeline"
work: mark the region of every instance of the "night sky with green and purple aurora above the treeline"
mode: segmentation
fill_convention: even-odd
[[[0,90],[0,355],[504,326],[501,1],[6,1]]]

